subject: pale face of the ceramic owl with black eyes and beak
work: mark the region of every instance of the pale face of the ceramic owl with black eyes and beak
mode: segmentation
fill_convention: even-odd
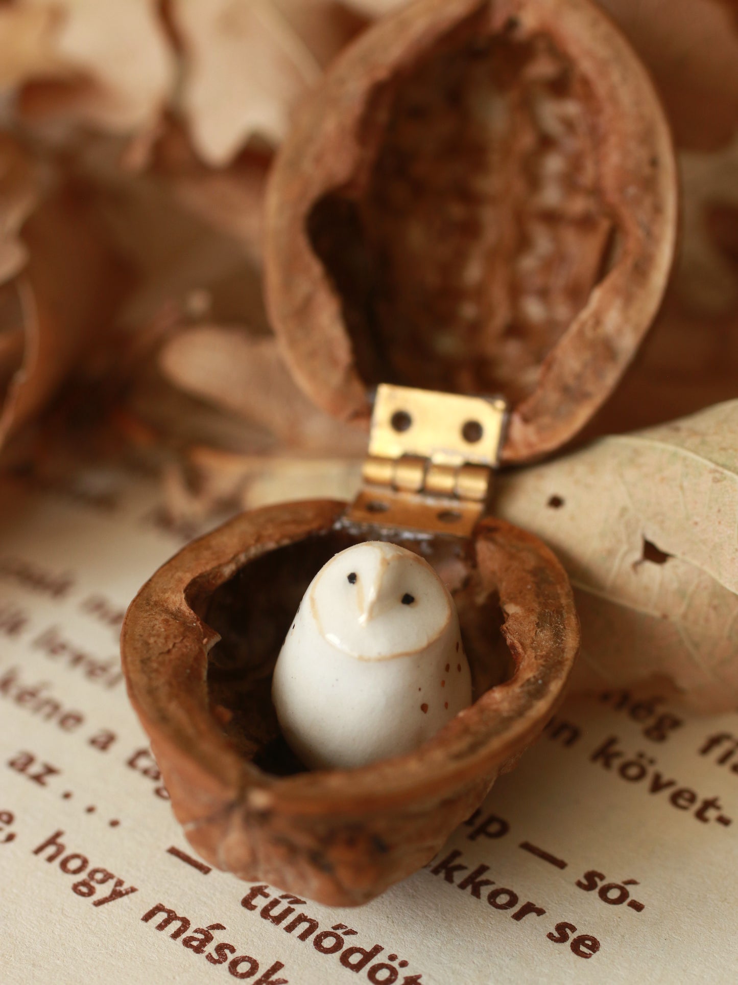
[[[310,608],[328,642],[363,660],[416,653],[452,616],[448,592],[430,565],[383,541],[332,558],[311,586]]]

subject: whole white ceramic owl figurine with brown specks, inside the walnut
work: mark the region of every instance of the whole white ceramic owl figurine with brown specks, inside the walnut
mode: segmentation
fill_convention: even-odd
[[[456,606],[423,558],[383,541],[313,578],[272,695],[284,738],[315,768],[408,753],[471,703]]]

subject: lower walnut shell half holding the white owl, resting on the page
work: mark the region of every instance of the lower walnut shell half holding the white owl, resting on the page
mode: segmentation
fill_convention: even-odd
[[[531,535],[483,520],[468,542],[345,524],[319,500],[242,514],[164,564],[128,611],[122,655],[177,819],[240,879],[329,905],[415,872],[514,765],[561,696],[578,646],[567,576]],[[392,540],[455,595],[474,703],[410,755],[307,772],[270,700],[284,633],[338,550]]]

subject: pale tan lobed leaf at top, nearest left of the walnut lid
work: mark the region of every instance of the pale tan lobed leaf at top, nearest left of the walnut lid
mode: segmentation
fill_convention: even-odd
[[[228,164],[255,134],[277,145],[292,108],[357,25],[329,0],[174,0],[182,108],[203,161]]]

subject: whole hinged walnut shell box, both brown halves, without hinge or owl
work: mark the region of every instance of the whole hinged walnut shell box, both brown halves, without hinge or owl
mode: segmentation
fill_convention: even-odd
[[[303,106],[268,195],[267,292],[294,377],[367,425],[392,382],[501,394],[500,463],[568,441],[636,353],[674,247],[675,168],[643,66],[584,0],[419,0]],[[541,731],[579,644],[563,568],[487,516],[470,537],[349,523],[347,504],[236,517],[132,603],[131,700],[197,852],[241,879],[362,903],[427,863]],[[460,612],[475,701],[415,753],[307,772],[271,674],[338,550],[423,554]]]

